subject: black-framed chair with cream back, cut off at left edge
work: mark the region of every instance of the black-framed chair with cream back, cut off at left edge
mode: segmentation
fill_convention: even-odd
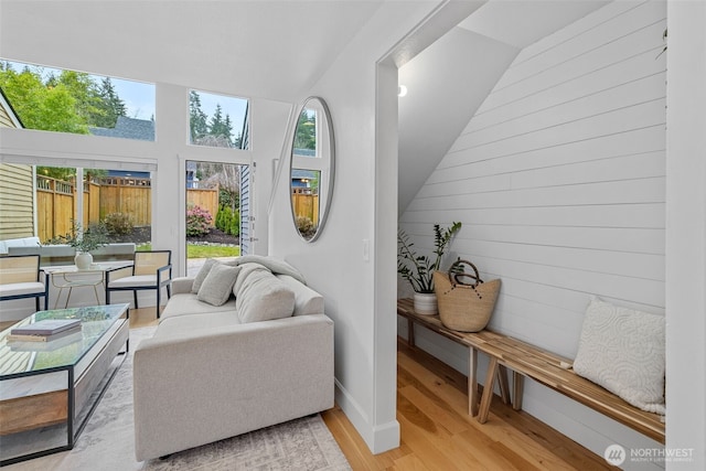
[[[44,297],[44,310],[49,309],[49,277],[42,280],[39,255],[8,255],[0,257],[0,301],[34,298],[40,310]]]

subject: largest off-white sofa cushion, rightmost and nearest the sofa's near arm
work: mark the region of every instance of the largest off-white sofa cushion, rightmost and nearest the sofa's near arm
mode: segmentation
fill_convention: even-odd
[[[253,269],[238,277],[235,307],[242,323],[288,318],[295,310],[295,292],[269,270]]]

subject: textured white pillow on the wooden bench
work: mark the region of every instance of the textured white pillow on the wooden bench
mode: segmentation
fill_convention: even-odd
[[[574,371],[635,407],[665,414],[664,317],[592,299]]]

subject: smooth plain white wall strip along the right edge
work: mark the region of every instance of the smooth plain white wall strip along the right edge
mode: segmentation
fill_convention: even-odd
[[[667,2],[666,446],[706,469],[706,3]]]

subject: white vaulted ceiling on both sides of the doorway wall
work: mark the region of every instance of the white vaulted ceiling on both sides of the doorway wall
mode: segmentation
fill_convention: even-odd
[[[383,1],[0,0],[0,57],[297,101]],[[400,212],[515,55],[607,1],[475,3],[399,71]]]

